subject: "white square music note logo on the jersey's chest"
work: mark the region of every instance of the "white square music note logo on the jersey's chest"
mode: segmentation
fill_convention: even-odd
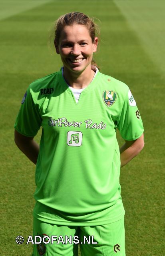
[[[67,133],[67,144],[69,146],[81,146],[82,145],[82,132],[69,131]]]

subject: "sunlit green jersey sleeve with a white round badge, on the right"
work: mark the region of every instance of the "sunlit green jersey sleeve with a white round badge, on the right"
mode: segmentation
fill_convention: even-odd
[[[118,118],[117,128],[124,140],[136,140],[144,131],[139,110],[129,88]]]

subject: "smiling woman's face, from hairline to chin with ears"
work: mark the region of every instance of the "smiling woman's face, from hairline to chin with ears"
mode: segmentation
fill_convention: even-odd
[[[91,64],[93,52],[97,50],[98,38],[91,40],[86,26],[73,24],[61,31],[56,52],[60,54],[64,68],[71,72],[82,72]]]

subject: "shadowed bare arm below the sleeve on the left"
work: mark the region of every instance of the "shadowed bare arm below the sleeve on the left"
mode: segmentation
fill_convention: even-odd
[[[14,141],[18,148],[32,161],[37,163],[40,146],[34,141],[34,137],[27,137],[15,130]]]

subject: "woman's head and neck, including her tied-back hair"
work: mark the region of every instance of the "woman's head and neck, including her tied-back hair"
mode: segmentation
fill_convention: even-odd
[[[66,82],[73,88],[86,87],[95,75],[91,64],[98,68],[93,52],[99,42],[99,28],[85,14],[72,13],[58,19],[55,31],[54,45],[64,65]]]

